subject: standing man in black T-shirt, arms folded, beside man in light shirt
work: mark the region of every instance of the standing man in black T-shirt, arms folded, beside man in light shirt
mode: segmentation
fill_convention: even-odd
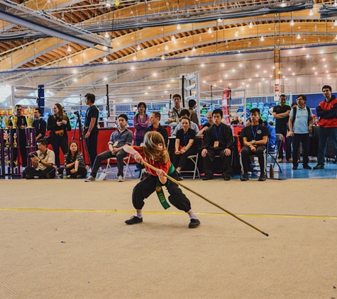
[[[276,118],[275,121],[275,130],[276,134],[282,134],[285,137],[285,155],[287,162],[292,163],[292,140],[290,137],[287,137],[287,125],[289,122],[289,114],[292,108],[285,104],[287,96],[281,94],[280,104],[275,106],[272,111],[272,116]],[[279,163],[283,162],[283,148],[280,147],[279,152]]]

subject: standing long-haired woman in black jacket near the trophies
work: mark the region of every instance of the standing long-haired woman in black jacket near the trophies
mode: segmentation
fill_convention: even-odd
[[[60,167],[60,147],[63,154],[68,151],[67,131],[72,130],[72,127],[59,103],[55,103],[54,114],[48,118],[47,130],[50,130],[50,143],[55,152],[55,164]]]

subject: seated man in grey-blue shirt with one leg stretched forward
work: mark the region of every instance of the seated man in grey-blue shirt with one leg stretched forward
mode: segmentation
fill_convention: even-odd
[[[132,145],[133,143],[133,133],[131,130],[126,128],[128,124],[128,116],[121,114],[118,116],[119,130],[114,131],[108,142],[109,150],[102,152],[97,155],[94,167],[92,168],[92,174],[85,181],[95,181],[97,171],[101,166],[103,160],[116,157],[117,158],[117,168],[118,168],[118,181],[123,181],[123,158],[126,157],[126,152],[123,150],[124,145]]]

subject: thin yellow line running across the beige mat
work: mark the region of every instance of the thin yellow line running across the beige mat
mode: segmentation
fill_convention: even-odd
[[[52,209],[52,208],[0,208],[0,210],[18,210],[29,212],[82,212],[82,213],[134,213],[134,210],[77,210],[77,209]],[[184,214],[183,212],[166,211],[143,211],[144,214]],[[226,213],[195,213],[206,216],[229,216]],[[333,219],[337,216],[318,216],[318,215],[279,215],[279,214],[236,214],[241,217],[270,217],[270,218],[305,218],[305,219]]]

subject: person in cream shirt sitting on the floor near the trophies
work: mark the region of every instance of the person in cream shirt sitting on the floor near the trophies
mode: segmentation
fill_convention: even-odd
[[[38,151],[28,154],[33,167],[26,167],[23,171],[23,179],[53,179],[55,178],[55,153],[47,148],[48,141],[40,139],[38,141]]]

